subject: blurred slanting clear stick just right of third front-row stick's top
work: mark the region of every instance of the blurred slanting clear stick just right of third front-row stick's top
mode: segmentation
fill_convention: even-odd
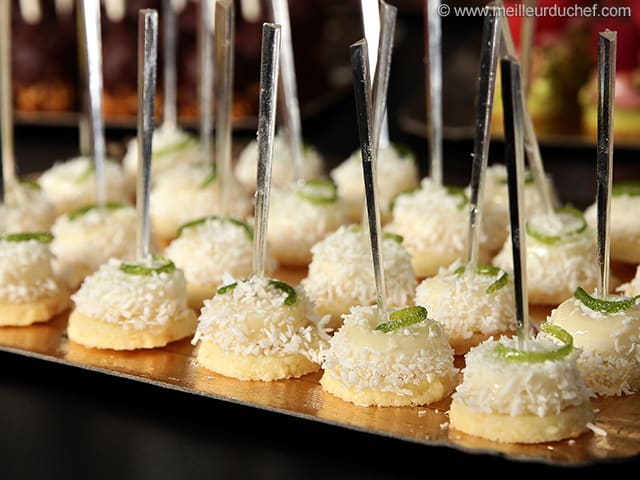
[[[291,38],[291,20],[287,0],[271,0],[273,21],[281,28],[280,70],[282,105],[284,123],[289,135],[291,156],[293,158],[294,181],[304,180],[304,154],[302,150],[302,127],[300,120],[300,106],[298,103],[298,88],[296,85],[296,69],[293,58],[293,40]]]

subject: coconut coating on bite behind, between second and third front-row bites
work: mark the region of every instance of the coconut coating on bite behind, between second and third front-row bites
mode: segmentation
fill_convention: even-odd
[[[253,272],[253,241],[246,230],[223,219],[208,219],[183,230],[164,255],[184,271],[188,284],[215,291],[226,276],[247,278]],[[267,271],[276,261],[269,256]]]

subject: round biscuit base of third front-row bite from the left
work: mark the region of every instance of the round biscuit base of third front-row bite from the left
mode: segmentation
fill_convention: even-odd
[[[236,355],[224,351],[214,341],[200,342],[197,360],[207,370],[238,380],[269,382],[320,370],[320,364],[304,355]]]

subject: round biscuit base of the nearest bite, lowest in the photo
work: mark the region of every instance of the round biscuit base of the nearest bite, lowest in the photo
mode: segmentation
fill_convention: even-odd
[[[453,400],[449,409],[449,428],[501,443],[544,443],[575,438],[593,421],[589,400],[561,413],[537,415],[500,415],[474,412]]]

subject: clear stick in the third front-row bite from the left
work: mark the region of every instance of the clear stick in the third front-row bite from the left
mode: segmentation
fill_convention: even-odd
[[[278,98],[280,31],[281,28],[278,24],[265,23],[262,26],[260,107],[258,112],[258,173],[253,243],[253,275],[256,277],[264,276],[266,265],[273,138],[276,128],[276,101]]]

